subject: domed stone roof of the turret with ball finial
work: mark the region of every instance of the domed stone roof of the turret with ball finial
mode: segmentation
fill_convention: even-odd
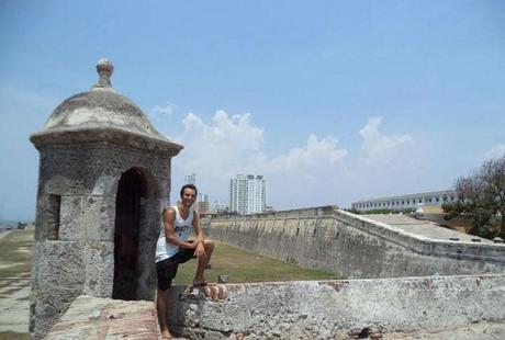
[[[181,149],[159,134],[142,110],[111,86],[114,66],[108,59],[100,59],[97,71],[100,79],[88,92],[75,94],[59,104],[47,118],[43,129],[32,135],[32,141],[47,139],[48,135],[68,136],[71,133],[91,131],[123,132],[136,137],[156,139]],[[49,138],[55,139],[54,136]],[[68,139],[68,138],[67,138]]]

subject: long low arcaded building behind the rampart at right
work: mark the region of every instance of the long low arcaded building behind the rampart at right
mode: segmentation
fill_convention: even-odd
[[[363,200],[352,203],[352,208],[367,212],[375,209],[415,209],[419,206],[441,206],[444,203],[456,200],[454,190],[433,191],[401,196],[388,196]]]

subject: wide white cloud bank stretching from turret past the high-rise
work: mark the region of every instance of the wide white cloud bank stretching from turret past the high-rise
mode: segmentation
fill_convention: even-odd
[[[414,139],[381,132],[381,118],[360,129],[361,152],[349,155],[338,140],[310,134],[284,152],[271,155],[263,128],[248,113],[217,111],[212,118],[188,113],[180,133],[170,138],[184,146],[172,159],[172,194],[184,174],[197,173],[200,190],[211,202],[228,201],[229,179],[238,173],[263,174],[267,203],[285,209],[328,204],[347,206],[351,200],[384,193],[404,193],[423,173],[413,155]],[[289,136],[285,136],[289,138]],[[364,161],[363,161],[364,160]],[[175,197],[172,197],[173,201]]]

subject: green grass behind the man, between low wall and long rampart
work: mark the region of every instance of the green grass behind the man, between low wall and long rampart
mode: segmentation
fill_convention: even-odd
[[[197,260],[179,265],[173,284],[191,284],[195,270]],[[343,279],[334,273],[301,268],[222,242],[215,245],[211,269],[205,271],[205,277],[216,281],[218,274],[228,275],[228,283]]]

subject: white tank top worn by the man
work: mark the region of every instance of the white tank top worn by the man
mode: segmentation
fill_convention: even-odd
[[[178,239],[181,241],[188,240],[191,229],[193,227],[193,214],[194,211],[190,209],[188,218],[183,219],[181,214],[179,213],[179,208],[177,206],[172,206],[176,211],[176,220],[175,220],[175,233]],[[159,233],[158,242],[156,243],[156,262],[166,260],[168,258],[173,257],[179,251],[179,247],[175,245],[170,245],[167,242],[167,238],[165,236],[165,226],[161,222],[161,230]]]

